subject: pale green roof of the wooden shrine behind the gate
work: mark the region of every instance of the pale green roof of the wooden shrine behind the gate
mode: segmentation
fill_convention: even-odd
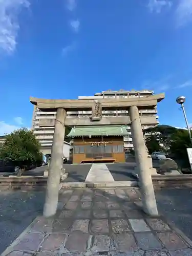
[[[67,137],[78,136],[123,136],[128,135],[126,126],[102,125],[102,126],[77,126],[72,128]]]

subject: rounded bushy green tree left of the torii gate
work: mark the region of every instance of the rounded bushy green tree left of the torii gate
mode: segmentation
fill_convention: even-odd
[[[31,165],[40,163],[42,154],[34,133],[22,128],[7,135],[0,151],[0,159],[12,161],[18,166],[18,176]]]

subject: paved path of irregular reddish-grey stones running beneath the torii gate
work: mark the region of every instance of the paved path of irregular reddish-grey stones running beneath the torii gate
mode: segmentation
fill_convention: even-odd
[[[63,189],[54,218],[38,217],[2,256],[189,256],[191,241],[149,218],[137,188]]]

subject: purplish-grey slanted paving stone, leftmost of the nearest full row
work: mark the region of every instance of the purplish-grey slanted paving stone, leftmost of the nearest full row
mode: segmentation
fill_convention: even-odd
[[[41,241],[44,239],[44,233],[27,233],[25,237],[13,247],[14,250],[36,251]]]

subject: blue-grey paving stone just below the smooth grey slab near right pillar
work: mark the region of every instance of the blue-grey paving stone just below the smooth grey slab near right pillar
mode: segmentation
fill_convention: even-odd
[[[151,232],[135,233],[135,238],[137,240],[138,246],[142,250],[157,250],[162,248],[161,243]]]

